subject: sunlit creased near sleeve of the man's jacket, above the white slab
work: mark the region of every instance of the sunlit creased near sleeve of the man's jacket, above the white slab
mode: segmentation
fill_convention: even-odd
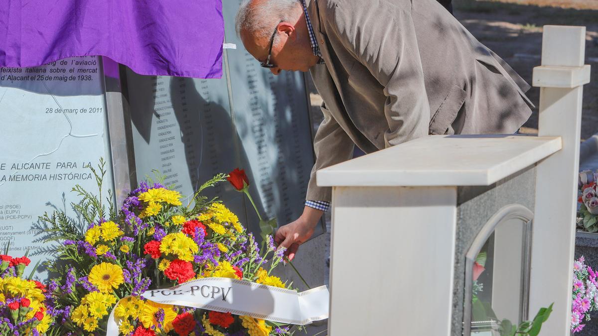
[[[389,147],[428,135],[430,108],[411,2],[373,2],[355,11],[343,1],[329,1],[324,24],[328,38],[352,53],[384,87]]]

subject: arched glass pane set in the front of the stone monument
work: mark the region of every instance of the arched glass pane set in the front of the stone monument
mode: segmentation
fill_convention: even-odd
[[[518,325],[527,295],[527,224],[500,222],[472,262],[471,334],[499,335],[501,321]]]

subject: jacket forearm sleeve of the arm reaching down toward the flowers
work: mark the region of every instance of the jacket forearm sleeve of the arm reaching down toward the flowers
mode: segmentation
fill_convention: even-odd
[[[313,165],[309,185],[307,186],[306,200],[331,201],[332,188],[318,187],[316,172],[318,169],[349,160],[353,157],[353,148],[355,148],[353,141],[332,118],[324,103],[322,103],[322,113],[324,114],[324,120],[318,128],[313,142],[316,163]]]

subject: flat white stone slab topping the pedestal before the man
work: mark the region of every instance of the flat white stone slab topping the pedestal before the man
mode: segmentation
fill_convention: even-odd
[[[318,171],[321,187],[491,185],[562,148],[560,137],[431,135]]]

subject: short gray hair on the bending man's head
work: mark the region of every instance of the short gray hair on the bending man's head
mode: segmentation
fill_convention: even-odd
[[[270,37],[274,27],[290,21],[289,14],[301,5],[301,0],[265,0],[250,6],[252,0],[243,0],[236,17],[237,35],[243,30],[255,38]],[[277,39],[276,39],[277,40]]]

